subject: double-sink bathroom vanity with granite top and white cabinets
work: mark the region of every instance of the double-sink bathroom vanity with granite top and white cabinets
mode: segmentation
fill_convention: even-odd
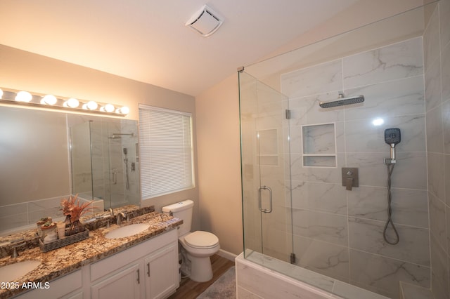
[[[20,252],[11,262],[39,260],[41,265],[17,279],[18,288],[0,290],[0,298],[166,298],[179,286],[178,233],[182,220],[149,213],[125,222],[150,223],[130,237],[108,239],[117,225],[91,231],[89,238],[54,251]],[[24,285],[25,283],[25,285]],[[24,287],[28,283],[30,288]]]

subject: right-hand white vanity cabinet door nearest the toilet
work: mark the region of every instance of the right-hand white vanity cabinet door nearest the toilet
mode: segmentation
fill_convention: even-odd
[[[178,243],[170,244],[148,255],[146,298],[166,298],[179,287]]]

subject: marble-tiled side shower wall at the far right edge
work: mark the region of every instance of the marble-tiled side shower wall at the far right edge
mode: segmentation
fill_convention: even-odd
[[[432,293],[450,298],[450,0],[440,1],[423,36]]]

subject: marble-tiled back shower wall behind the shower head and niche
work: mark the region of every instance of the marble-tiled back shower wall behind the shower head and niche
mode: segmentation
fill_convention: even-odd
[[[409,39],[281,77],[289,97],[294,250],[297,264],[399,296],[399,281],[430,288],[423,39]],[[362,105],[322,109],[319,101],[364,95]],[[383,119],[382,126],[372,121]],[[335,124],[337,167],[302,165],[302,125]],[[393,220],[400,235],[383,239],[387,220],[385,128],[400,128],[392,177]],[[441,164],[443,165],[443,164]],[[346,191],[341,168],[359,168]],[[392,231],[390,234],[392,237]]]

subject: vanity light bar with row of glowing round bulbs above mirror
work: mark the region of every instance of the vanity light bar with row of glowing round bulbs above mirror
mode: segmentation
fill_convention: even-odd
[[[124,117],[129,114],[129,107],[110,103],[96,102],[93,100],[77,100],[76,98],[61,98],[54,95],[42,95],[27,91],[15,91],[8,88],[0,88],[0,104],[27,105],[41,108],[62,109],[65,111],[77,111],[84,113],[108,114],[116,117]]]

